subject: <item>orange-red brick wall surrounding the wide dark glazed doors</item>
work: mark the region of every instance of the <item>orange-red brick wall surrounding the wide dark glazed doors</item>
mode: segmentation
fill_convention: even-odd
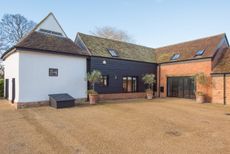
[[[164,86],[164,93],[160,94],[161,97],[167,96],[167,87],[166,87],[167,77],[193,76],[197,73],[203,72],[211,80],[211,76],[210,76],[211,69],[212,69],[211,59],[161,64],[159,67],[160,67],[160,86]],[[211,101],[211,97],[212,97],[211,85],[205,88],[197,84],[196,88],[197,91],[203,91],[204,93],[206,93],[207,101],[208,102]]]

